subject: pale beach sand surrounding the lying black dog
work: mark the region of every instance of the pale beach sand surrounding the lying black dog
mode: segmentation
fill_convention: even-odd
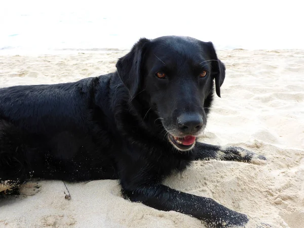
[[[0,56],[1,87],[77,81],[115,70],[126,52]],[[226,64],[203,142],[264,155],[264,165],[199,161],[164,181],[247,214],[246,227],[304,227],[304,50],[218,51]],[[116,180],[32,181],[0,200],[0,227],[204,227],[124,200]]]

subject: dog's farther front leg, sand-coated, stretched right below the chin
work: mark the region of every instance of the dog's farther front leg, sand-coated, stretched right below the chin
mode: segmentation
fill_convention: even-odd
[[[210,145],[202,142],[196,142],[194,147],[194,160],[223,160],[223,161],[237,161],[250,162],[260,164],[266,160],[262,155],[257,155],[247,149],[237,146],[221,147],[217,145]]]

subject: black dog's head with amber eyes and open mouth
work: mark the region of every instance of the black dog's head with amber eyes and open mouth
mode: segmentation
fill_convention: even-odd
[[[213,80],[220,97],[225,78],[212,43],[181,36],[140,39],[116,66],[130,98],[145,97],[173,146],[193,148],[207,123]]]

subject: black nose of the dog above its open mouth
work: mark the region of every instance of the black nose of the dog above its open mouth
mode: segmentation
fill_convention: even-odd
[[[177,126],[184,134],[197,133],[203,127],[203,117],[198,114],[182,114],[177,118]]]

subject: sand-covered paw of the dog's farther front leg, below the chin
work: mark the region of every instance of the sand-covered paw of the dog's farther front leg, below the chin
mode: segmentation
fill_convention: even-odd
[[[238,146],[227,146],[221,148],[225,160],[248,162],[255,165],[266,164],[267,159],[262,155],[257,155],[247,149]]]

